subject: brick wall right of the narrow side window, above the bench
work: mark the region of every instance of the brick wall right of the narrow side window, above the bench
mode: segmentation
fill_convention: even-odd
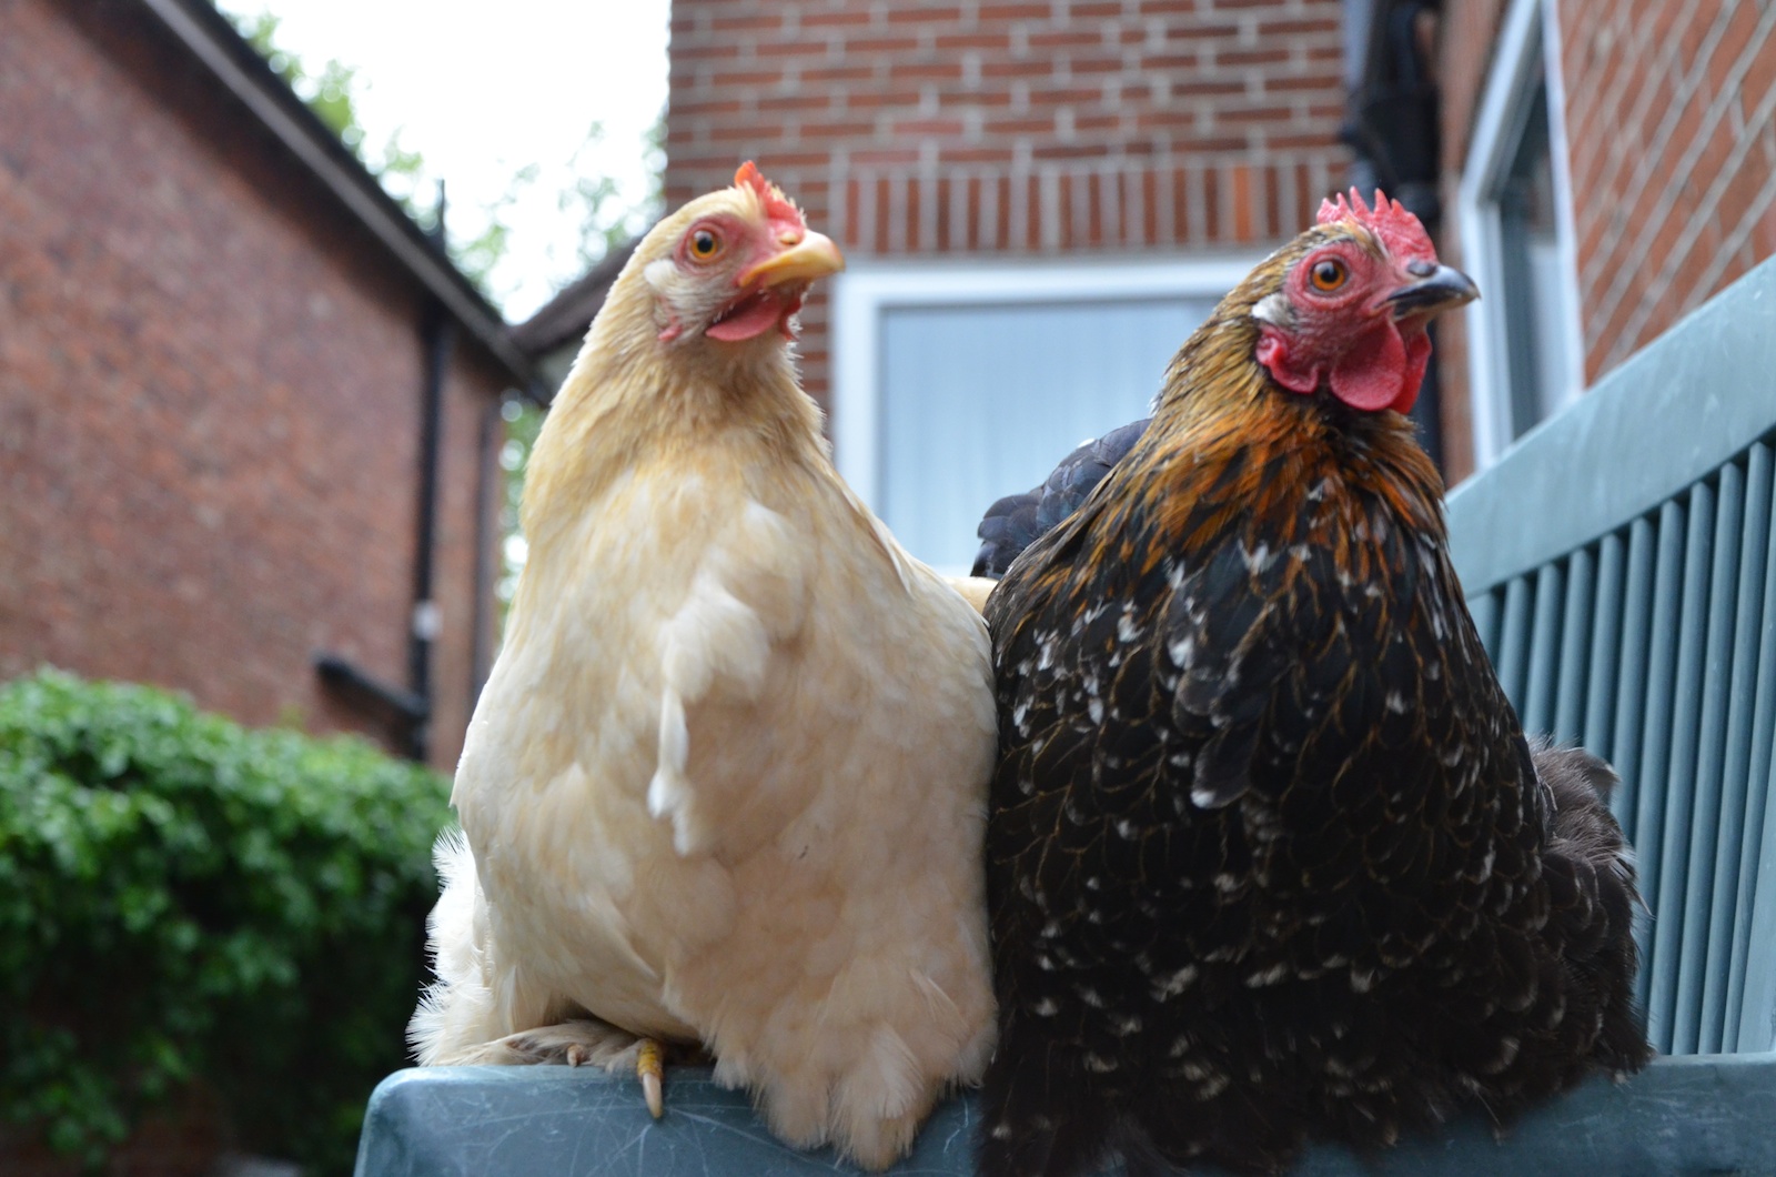
[[[1595,380],[1776,254],[1776,5],[1561,0]]]

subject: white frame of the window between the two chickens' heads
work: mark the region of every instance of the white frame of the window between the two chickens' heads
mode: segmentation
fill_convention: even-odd
[[[860,261],[833,284],[833,460],[879,510],[883,313],[895,308],[1220,299],[1263,254],[1108,261]],[[1185,341],[1183,336],[1177,340]],[[1160,391],[1154,384],[1154,393]],[[1055,455],[1060,457],[1058,453]],[[1007,487],[1012,492],[1023,487]],[[986,503],[982,503],[982,508]]]

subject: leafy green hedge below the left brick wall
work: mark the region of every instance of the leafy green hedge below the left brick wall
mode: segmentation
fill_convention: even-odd
[[[201,1077],[243,1147],[348,1172],[405,1061],[446,798],[361,740],[0,688],[0,1117],[99,1165]]]

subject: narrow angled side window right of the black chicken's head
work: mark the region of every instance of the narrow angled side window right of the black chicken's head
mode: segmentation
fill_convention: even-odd
[[[1584,386],[1552,5],[1515,0],[1462,176],[1474,459],[1487,466]]]

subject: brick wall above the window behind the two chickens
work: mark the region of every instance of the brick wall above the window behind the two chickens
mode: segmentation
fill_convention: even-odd
[[[757,158],[860,256],[1284,240],[1339,187],[1336,0],[675,0],[666,199]],[[803,316],[826,393],[826,306]]]

